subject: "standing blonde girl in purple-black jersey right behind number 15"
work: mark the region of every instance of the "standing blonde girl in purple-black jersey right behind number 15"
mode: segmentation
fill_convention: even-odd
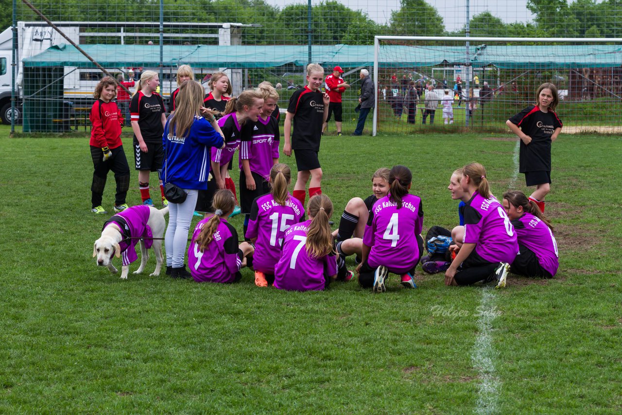
[[[244,124],[239,147],[239,199],[244,213],[244,233],[251,205],[256,198],[270,192],[271,169],[279,162],[279,121],[272,117],[279,94],[266,82],[259,85],[257,91],[264,98],[264,105],[257,121]]]

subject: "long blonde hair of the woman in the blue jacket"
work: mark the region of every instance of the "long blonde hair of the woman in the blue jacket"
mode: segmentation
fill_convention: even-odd
[[[203,86],[193,80],[183,82],[179,87],[176,102],[175,112],[170,116],[169,137],[173,135],[186,137],[190,133],[195,117],[200,116]]]

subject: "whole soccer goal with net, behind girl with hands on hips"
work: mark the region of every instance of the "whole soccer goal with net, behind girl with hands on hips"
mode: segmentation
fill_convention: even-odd
[[[562,131],[622,132],[622,39],[374,39],[374,136],[422,133],[430,124],[501,130],[547,82],[559,91]]]

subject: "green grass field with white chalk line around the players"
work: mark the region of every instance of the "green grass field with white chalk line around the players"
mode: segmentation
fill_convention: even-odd
[[[91,258],[88,138],[9,139],[0,128],[0,413],[620,413],[622,141],[561,134],[552,194],[560,270],[508,287],[445,287],[417,271],[374,295],[121,281]],[[131,138],[124,139],[132,160]],[[372,172],[406,164],[424,232],[457,224],[453,169],[479,161],[493,192],[516,142],[419,134],[322,142],[335,221]],[[293,159],[282,161],[294,167]],[[295,169],[295,167],[294,167]],[[129,203],[139,203],[132,170]],[[152,194],[157,194],[152,178]],[[111,210],[109,176],[104,207]],[[232,223],[241,232],[242,218]],[[147,270],[154,268],[150,258]],[[132,264],[131,271],[137,268]],[[350,268],[354,264],[350,263]]]

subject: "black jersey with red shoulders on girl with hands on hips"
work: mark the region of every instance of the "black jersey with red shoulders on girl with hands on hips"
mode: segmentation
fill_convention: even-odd
[[[525,144],[521,140],[519,171],[550,172],[550,137],[555,129],[562,128],[562,121],[553,111],[543,113],[539,106],[528,106],[514,115],[509,121],[519,126],[524,134],[531,137]]]

